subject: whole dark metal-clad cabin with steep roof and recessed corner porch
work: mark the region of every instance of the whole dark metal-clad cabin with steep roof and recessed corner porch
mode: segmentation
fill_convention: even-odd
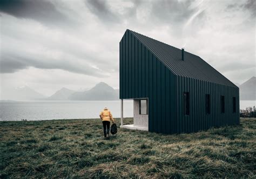
[[[120,99],[134,100],[133,125],[191,133],[239,124],[239,88],[195,54],[126,30],[119,43]]]

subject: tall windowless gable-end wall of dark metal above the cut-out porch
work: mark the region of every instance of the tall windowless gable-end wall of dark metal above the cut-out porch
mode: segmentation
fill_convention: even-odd
[[[149,131],[176,133],[175,76],[129,31],[119,43],[120,99],[149,99]]]

